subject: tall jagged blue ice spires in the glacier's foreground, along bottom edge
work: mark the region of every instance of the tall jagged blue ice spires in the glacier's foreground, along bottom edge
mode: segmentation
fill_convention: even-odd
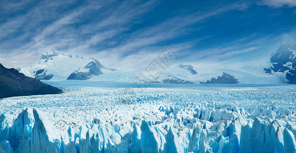
[[[242,116],[197,119],[184,129],[170,122],[94,120],[60,131],[36,108],[23,110],[12,125],[0,115],[0,152],[296,152],[295,134],[288,121]]]

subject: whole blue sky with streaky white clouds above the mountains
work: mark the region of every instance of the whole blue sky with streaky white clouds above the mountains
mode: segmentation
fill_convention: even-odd
[[[294,0],[3,0],[0,63],[30,66],[55,49],[130,70],[145,68],[169,46],[175,64],[259,64],[295,28]]]

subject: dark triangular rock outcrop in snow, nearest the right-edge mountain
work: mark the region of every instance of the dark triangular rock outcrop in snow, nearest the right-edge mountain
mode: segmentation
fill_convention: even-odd
[[[200,82],[200,84],[238,84],[238,79],[235,79],[233,75],[224,73],[219,76],[217,79],[212,78],[211,81],[208,80],[207,82]]]

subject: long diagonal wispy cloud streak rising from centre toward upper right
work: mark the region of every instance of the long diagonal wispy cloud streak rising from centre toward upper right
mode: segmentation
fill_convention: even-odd
[[[188,32],[190,32],[190,30],[192,30],[189,28],[189,25],[203,19],[210,18],[215,15],[220,15],[230,10],[243,10],[245,8],[247,8],[247,5],[234,3],[222,8],[213,8],[213,10],[210,12],[196,12],[191,15],[177,16],[153,27],[143,28],[135,31],[131,34],[131,37],[129,37],[122,43],[122,45],[102,50],[102,52],[119,52],[120,54],[124,55],[126,52],[130,52],[132,49],[135,49],[137,47],[145,47],[148,45],[174,39],[176,37],[179,37],[180,35],[186,35],[188,34]]]

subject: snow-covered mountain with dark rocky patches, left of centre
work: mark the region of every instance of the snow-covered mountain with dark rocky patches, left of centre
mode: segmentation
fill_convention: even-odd
[[[66,56],[55,50],[47,50],[36,65],[21,69],[27,76],[39,80],[87,80],[112,71],[116,69],[109,69],[94,58]]]

